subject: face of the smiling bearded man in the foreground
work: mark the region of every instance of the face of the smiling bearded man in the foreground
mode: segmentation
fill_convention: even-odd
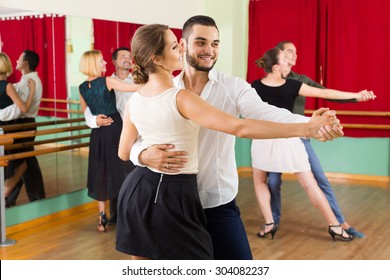
[[[186,60],[195,70],[213,69],[219,53],[219,33],[215,27],[194,25],[186,42]]]

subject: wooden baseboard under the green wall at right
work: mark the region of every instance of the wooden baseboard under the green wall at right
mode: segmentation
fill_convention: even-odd
[[[239,167],[239,176],[252,176],[252,167]],[[372,186],[387,187],[390,188],[390,177],[389,176],[375,176],[375,175],[364,175],[364,174],[346,174],[346,173],[335,173],[325,172],[326,177],[332,182],[347,181],[351,183],[362,183]],[[283,173],[284,179],[295,179],[294,173]]]

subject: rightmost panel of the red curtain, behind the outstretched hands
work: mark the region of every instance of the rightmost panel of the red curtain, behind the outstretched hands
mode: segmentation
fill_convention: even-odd
[[[386,0],[323,1],[321,65],[324,85],[345,91],[370,89],[377,99],[361,103],[319,106],[335,110],[390,111],[386,55],[390,49],[390,2]],[[387,124],[390,117],[339,116],[342,123]],[[389,130],[345,129],[348,136],[390,137]]]

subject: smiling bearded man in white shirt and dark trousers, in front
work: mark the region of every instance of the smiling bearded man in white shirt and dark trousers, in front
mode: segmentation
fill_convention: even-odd
[[[307,122],[303,116],[264,103],[244,80],[214,70],[219,53],[219,31],[207,16],[191,17],[183,26],[186,50],[184,70],[175,85],[199,94],[209,104],[229,114],[274,122]],[[324,140],[342,131],[323,130]],[[205,128],[199,133],[198,190],[207,217],[215,259],[252,259],[249,242],[235,197],[238,174],[235,137]],[[185,152],[169,151],[172,145],[155,145],[142,150],[133,145],[131,161],[159,170],[178,172],[185,164]]]

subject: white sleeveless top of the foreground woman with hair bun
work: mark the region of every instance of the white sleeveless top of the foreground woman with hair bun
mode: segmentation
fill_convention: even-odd
[[[193,174],[198,173],[199,125],[180,114],[176,104],[179,91],[180,88],[172,87],[153,97],[134,93],[129,100],[130,119],[141,136],[143,148],[155,144],[175,145],[172,151],[180,150],[188,153],[185,156],[187,163],[180,173]]]

